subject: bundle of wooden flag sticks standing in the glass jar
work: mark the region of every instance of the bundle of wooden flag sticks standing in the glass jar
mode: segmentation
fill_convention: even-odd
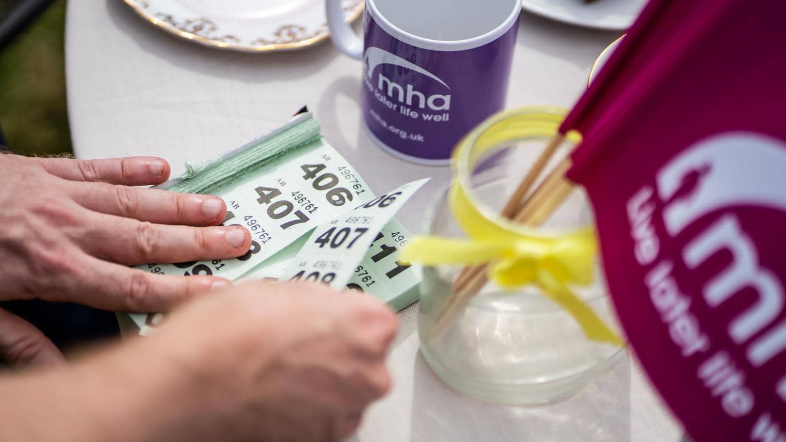
[[[557,164],[549,175],[542,179],[537,188],[531,190],[564,141],[565,134],[561,133],[556,134],[549,141],[502,209],[500,215],[503,218],[525,226],[538,227],[564,203],[574,187],[565,177],[565,173],[571,168],[569,157]],[[458,274],[452,286],[453,296],[437,314],[430,333],[431,339],[442,336],[472,297],[483,289],[488,282],[487,269],[488,264],[480,264],[465,267]]]

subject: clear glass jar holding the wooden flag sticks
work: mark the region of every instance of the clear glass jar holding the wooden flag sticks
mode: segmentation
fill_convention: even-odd
[[[535,111],[564,115],[564,111],[556,109],[516,112]],[[507,141],[514,146],[487,152],[491,165],[488,161],[483,164],[483,159],[473,161],[480,166],[473,168],[470,176],[454,179],[467,180],[468,196],[479,212],[494,216],[491,214],[500,212],[534,164],[550,138],[545,135],[549,131],[556,133],[557,127],[558,123],[537,136],[511,136]],[[565,153],[567,149],[558,152],[557,157],[564,157]],[[426,234],[465,239],[449,200],[448,191],[439,194],[428,216]],[[593,213],[586,194],[576,187],[537,231],[560,234],[592,224]],[[421,352],[435,373],[454,389],[495,402],[545,403],[576,392],[621,359],[623,346],[589,340],[575,318],[536,285],[503,289],[489,282],[443,330],[436,331],[435,322],[453,295],[461,270],[461,266],[424,267],[418,314]],[[600,264],[595,273],[592,285],[571,285],[571,289],[621,336]]]

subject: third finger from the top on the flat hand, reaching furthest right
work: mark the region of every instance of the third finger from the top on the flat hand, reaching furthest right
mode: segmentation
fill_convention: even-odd
[[[91,256],[127,265],[222,260],[243,256],[251,248],[244,227],[186,227],[140,222],[88,212],[80,238]]]

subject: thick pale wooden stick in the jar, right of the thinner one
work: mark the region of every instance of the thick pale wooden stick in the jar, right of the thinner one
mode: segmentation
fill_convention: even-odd
[[[571,194],[574,186],[565,178],[565,172],[571,168],[570,158],[566,158],[549,174],[548,177],[534,190],[531,197],[523,204],[520,212],[513,218],[516,223],[525,223],[531,226],[539,226],[544,223],[549,216],[564,203]],[[469,304],[469,301],[476,296],[483,286],[488,282],[486,275],[487,264],[481,271],[475,272],[468,278],[461,289],[454,291],[447,304],[439,311],[435,319],[434,326],[429,333],[429,339],[437,339],[443,335],[454,322],[457,315]]]

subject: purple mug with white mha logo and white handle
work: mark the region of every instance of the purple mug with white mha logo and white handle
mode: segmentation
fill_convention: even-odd
[[[332,40],[363,60],[365,126],[387,152],[449,164],[459,139],[505,107],[521,0],[365,0],[364,39],[326,0]]]

